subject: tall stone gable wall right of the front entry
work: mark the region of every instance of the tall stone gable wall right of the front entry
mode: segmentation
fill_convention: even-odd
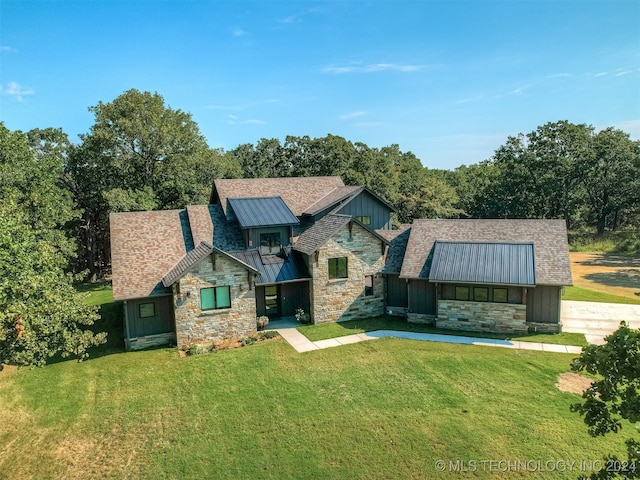
[[[313,277],[311,317],[327,323],[384,314],[382,242],[360,225],[345,225],[316,255],[308,257]],[[347,257],[348,278],[329,279],[330,258]],[[364,295],[364,277],[373,275],[373,295]]]

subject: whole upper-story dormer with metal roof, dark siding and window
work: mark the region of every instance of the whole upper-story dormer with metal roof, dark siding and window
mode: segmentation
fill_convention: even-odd
[[[238,222],[245,247],[277,255],[291,245],[298,217],[281,197],[227,198],[227,220]]]

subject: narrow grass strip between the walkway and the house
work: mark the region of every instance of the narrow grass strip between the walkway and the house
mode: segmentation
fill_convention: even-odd
[[[584,335],[581,333],[560,333],[560,334],[530,334],[530,335],[501,335],[497,333],[466,332],[460,330],[446,330],[443,328],[430,327],[420,323],[410,323],[403,318],[381,316],[368,318],[366,320],[350,320],[340,323],[325,323],[323,325],[306,325],[298,327],[302,333],[312,342],[325,340],[327,338],[342,337],[354,333],[371,332],[374,330],[401,330],[406,332],[439,333],[441,335],[462,335],[468,337],[499,338],[501,340],[519,340],[523,342],[554,343],[557,345],[577,345],[584,347],[588,345]]]

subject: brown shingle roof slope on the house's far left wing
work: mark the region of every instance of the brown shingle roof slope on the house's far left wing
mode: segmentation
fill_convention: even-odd
[[[111,267],[113,298],[164,293],[160,283],[186,253],[180,213],[183,210],[112,213]]]

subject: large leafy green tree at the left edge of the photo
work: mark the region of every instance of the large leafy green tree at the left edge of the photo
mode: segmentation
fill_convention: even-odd
[[[83,328],[96,309],[80,301],[64,271],[73,242],[62,227],[75,214],[60,187],[60,156],[35,144],[42,150],[0,124],[0,363],[84,358],[105,339]]]

